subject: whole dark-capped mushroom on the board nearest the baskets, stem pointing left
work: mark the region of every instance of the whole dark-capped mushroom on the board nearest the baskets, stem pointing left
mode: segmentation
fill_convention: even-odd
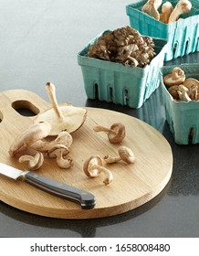
[[[111,144],[120,143],[125,137],[125,126],[122,123],[113,123],[110,128],[103,126],[95,126],[93,128],[95,132],[105,132],[108,134],[108,138]]]

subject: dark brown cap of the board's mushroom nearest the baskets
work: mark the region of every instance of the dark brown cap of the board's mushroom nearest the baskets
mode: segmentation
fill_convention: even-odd
[[[110,126],[110,130],[114,132],[108,133],[108,137],[111,144],[120,143],[126,135],[125,126],[122,123],[113,123]]]

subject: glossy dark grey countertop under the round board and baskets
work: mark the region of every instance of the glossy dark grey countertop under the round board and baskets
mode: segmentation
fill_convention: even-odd
[[[199,145],[174,143],[161,90],[152,93],[138,110],[88,100],[84,91],[77,53],[99,32],[129,25],[126,4],[122,0],[1,0],[0,89],[26,89],[48,101],[44,86],[50,80],[60,102],[124,112],[151,124],[172,146],[169,184],[140,208],[103,219],[50,219],[0,202],[1,237],[199,236]],[[172,63],[198,59],[195,53]]]

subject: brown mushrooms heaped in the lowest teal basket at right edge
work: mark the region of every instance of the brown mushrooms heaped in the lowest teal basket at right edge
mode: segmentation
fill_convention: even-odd
[[[183,69],[173,68],[173,72],[163,77],[163,82],[174,101],[199,101],[199,80],[186,79]]]

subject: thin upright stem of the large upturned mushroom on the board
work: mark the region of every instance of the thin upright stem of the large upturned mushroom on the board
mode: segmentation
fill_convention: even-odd
[[[47,82],[46,91],[47,91],[48,98],[52,104],[53,110],[55,111],[56,115],[58,116],[58,119],[63,120],[64,116],[58,108],[58,101],[56,99],[56,88],[55,88],[54,84],[52,84],[51,82]]]

